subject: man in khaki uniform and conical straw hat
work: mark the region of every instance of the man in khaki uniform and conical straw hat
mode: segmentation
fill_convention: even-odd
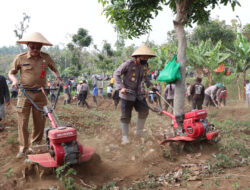
[[[28,95],[38,107],[43,109],[43,106],[47,104],[45,95],[42,91],[29,91],[29,89],[34,90],[46,86],[46,71],[48,67],[53,71],[57,81],[62,83],[54,61],[47,53],[40,51],[42,46],[52,46],[52,44],[38,32],[31,33],[17,42],[26,44],[28,52],[16,56],[9,71],[9,78],[12,81],[12,85],[17,87],[19,82],[15,75],[20,71],[20,84],[26,89]],[[46,120],[24,94],[19,92],[17,113],[20,149],[17,158],[24,157],[29,149],[28,122],[31,110],[34,124],[30,142],[32,145],[39,144],[42,141]]]

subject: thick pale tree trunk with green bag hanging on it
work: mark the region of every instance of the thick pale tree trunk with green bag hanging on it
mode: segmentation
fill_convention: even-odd
[[[180,73],[181,79],[176,82],[175,95],[174,95],[174,114],[181,115],[185,113],[185,77],[186,77],[186,50],[187,39],[184,30],[186,21],[186,1],[175,1],[176,3],[176,18],[174,20],[174,27],[176,37],[178,40],[178,54],[177,62],[181,63]]]

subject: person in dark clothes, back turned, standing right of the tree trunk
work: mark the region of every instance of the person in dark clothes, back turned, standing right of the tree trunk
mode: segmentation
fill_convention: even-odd
[[[201,84],[202,78],[197,77],[195,83],[190,87],[190,95],[192,99],[192,110],[202,109],[205,98],[205,87]]]

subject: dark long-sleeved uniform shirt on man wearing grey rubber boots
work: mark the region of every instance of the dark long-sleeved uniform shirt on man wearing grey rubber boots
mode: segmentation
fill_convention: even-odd
[[[147,87],[151,86],[152,83],[147,78],[147,69],[148,67],[146,65],[141,65],[134,59],[121,64],[114,72],[116,90],[126,88],[139,94],[141,92],[142,81],[145,81]],[[128,101],[136,100],[136,97],[129,93],[122,94],[120,92],[119,96]]]

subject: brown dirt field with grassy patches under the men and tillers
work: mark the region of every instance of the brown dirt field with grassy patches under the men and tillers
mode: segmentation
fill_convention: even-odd
[[[122,146],[120,109],[115,110],[111,100],[98,101],[95,108],[89,98],[88,110],[74,102],[64,106],[60,100],[56,109],[60,123],[75,127],[78,140],[92,146],[97,154],[93,160],[73,167],[76,175],[72,180],[65,173],[57,178],[55,169],[15,158],[17,119],[15,101],[11,102],[6,128],[0,132],[0,189],[250,189],[250,110],[243,104],[208,109],[209,121],[220,130],[219,143],[186,144],[181,153],[176,153],[174,145],[159,145],[163,135],[171,131],[170,118],[150,112],[147,136],[136,139],[133,112],[131,143]]]

